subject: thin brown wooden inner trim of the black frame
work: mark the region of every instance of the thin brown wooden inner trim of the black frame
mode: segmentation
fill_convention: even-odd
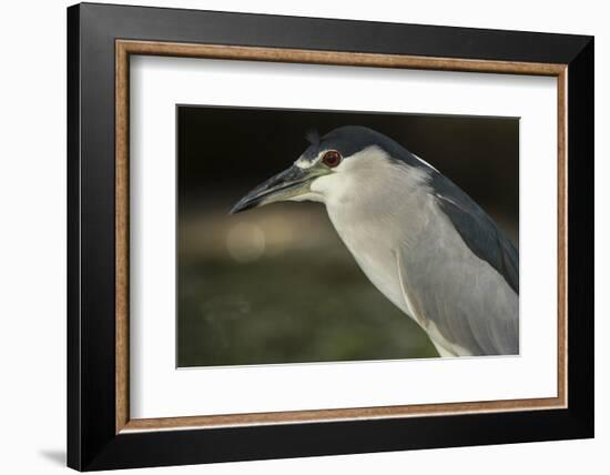
[[[418,58],[396,54],[363,54],[315,50],[184,44],[116,40],[116,433],[162,428],[272,424],[303,421],[338,421],[415,415],[460,414],[490,411],[522,411],[566,407],[567,366],[567,182],[566,182],[566,64],[517,61],[475,61],[449,58]],[[130,54],[279,61],[315,64],[408,68],[445,71],[501,72],[550,75],[558,81],[558,387],[557,397],[489,401],[454,404],[423,404],[345,410],[294,411],[217,416],[131,420],[129,417],[129,58]]]

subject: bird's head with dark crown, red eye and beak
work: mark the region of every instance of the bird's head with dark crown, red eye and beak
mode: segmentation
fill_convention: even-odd
[[[309,134],[308,140],[309,146],[287,170],[247,193],[231,213],[279,201],[327,203],[346,191],[362,191],[364,183],[370,186],[375,183],[372,179],[392,173],[397,164],[425,164],[392,139],[365,127],[346,125],[322,138]]]

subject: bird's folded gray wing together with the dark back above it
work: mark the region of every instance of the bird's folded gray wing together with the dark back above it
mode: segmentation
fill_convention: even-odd
[[[449,353],[517,354],[518,252],[491,219],[450,184],[435,189],[437,215],[416,245],[399,251],[407,305],[437,346]]]

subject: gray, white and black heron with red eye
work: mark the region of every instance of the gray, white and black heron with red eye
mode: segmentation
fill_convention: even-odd
[[[413,319],[440,357],[519,354],[519,253],[458,185],[363,125],[319,137],[231,214],[281,201],[326,206],[377,290]]]

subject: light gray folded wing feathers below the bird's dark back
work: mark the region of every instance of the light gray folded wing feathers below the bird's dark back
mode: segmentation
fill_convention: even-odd
[[[471,355],[518,354],[519,295],[460,241],[449,220],[433,219],[413,247],[417,252],[401,249],[399,272],[413,316],[428,332],[434,324],[448,352],[457,345]]]

